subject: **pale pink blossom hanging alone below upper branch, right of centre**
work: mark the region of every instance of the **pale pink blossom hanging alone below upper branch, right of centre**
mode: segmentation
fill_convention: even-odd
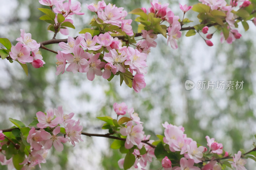
[[[178,44],[176,40],[178,40],[181,37],[181,32],[180,32],[181,26],[180,24],[173,25],[172,27],[168,27],[168,40],[167,40],[167,45],[170,43],[171,47],[173,49],[178,48]]]

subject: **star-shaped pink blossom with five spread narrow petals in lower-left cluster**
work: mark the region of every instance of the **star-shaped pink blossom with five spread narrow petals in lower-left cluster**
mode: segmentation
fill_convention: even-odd
[[[56,151],[61,152],[63,151],[63,144],[68,142],[67,138],[57,136],[60,133],[60,126],[57,126],[53,132],[52,135],[49,132],[42,131],[41,136],[45,141],[44,149],[50,149],[52,147],[52,144]]]

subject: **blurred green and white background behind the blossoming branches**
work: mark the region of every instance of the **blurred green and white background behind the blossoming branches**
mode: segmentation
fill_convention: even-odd
[[[73,2],[73,1],[72,1]],[[97,1],[80,0],[85,15],[75,16],[76,30],[69,29],[70,36],[78,35],[94,15],[86,4]],[[116,4],[126,11],[138,7],[150,7],[148,0],[106,0],[107,4]],[[197,1],[161,1],[169,3],[176,15],[182,17],[179,3],[193,5]],[[228,2],[229,3],[229,2]],[[38,18],[43,15],[37,8],[45,7],[36,0],[0,0],[0,37],[8,38],[13,45],[20,37],[20,28],[31,33],[37,42],[49,40],[48,26]],[[186,14],[196,24],[196,13]],[[126,18],[136,18],[128,14]],[[134,31],[137,23],[133,21]],[[148,73],[145,76],[147,86],[140,93],[133,92],[125,84],[119,85],[119,77],[108,82],[96,77],[92,82],[86,74],[65,72],[55,76],[55,54],[41,50],[46,64],[44,68],[34,69],[28,66],[28,76],[16,62],[0,60],[0,129],[12,126],[9,117],[19,119],[25,124],[33,121],[36,112],[45,112],[48,108],[63,105],[65,113],[74,112],[80,119],[84,131],[89,133],[107,133],[101,130],[102,122],[96,116],[115,116],[112,105],[115,102],[126,102],[134,107],[144,123],[145,134],[163,134],[162,123],[165,121],[182,125],[185,133],[200,144],[206,145],[205,136],[214,137],[222,143],[224,149],[236,153],[240,148],[252,149],[256,134],[256,29],[249,23],[250,29],[245,32],[239,25],[241,39],[229,45],[220,43],[220,36],[215,33],[213,47],[208,47],[199,35],[185,37],[178,41],[179,48],[173,50],[167,46],[166,39],[158,35],[157,47],[151,48],[148,55]],[[214,32],[210,28],[210,32]],[[67,38],[60,33],[56,38]],[[47,47],[60,50],[57,44]],[[192,80],[232,80],[244,81],[242,90],[197,90],[187,91],[185,81]],[[47,163],[42,169],[68,170],[118,170],[117,161],[124,157],[119,151],[110,149],[112,140],[101,137],[82,137],[84,142],[73,148],[65,144],[64,152],[54,149],[48,154]],[[157,169],[161,164],[154,161],[148,169]],[[255,164],[249,160],[247,169],[254,169]],[[4,170],[4,166],[0,166]]]

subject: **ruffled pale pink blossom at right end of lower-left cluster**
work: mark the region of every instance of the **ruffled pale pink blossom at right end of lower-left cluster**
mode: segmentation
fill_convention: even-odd
[[[79,125],[80,121],[76,121],[75,125],[74,123],[68,123],[67,126],[65,126],[67,137],[69,138],[69,142],[71,142],[74,146],[76,145],[75,142],[82,141],[81,133],[83,130],[83,126]]]

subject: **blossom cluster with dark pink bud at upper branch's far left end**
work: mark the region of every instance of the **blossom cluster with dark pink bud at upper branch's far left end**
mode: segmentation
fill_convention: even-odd
[[[21,37],[16,39],[19,42],[11,48],[11,58],[23,64],[31,63],[34,68],[43,67],[45,62],[39,50],[40,44],[31,38],[30,33],[25,33],[22,29],[20,32]]]

